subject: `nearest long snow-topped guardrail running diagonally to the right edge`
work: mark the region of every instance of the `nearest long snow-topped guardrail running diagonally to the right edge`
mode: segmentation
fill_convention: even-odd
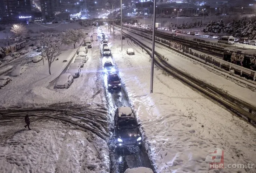
[[[117,26],[117,27],[120,27],[120,26]],[[147,37],[148,39],[152,39],[152,35],[150,35],[150,34],[143,33],[141,31],[126,28],[126,27],[123,27],[123,29],[128,30],[132,33],[141,35],[143,37]],[[200,51],[188,48],[188,47],[182,45],[181,43],[169,41],[166,39],[162,39],[160,37],[155,37],[155,40],[156,40],[156,42],[162,44],[165,47],[172,48],[184,55],[187,55],[188,57],[190,57],[194,60],[197,60],[204,64],[210,65],[211,67],[216,68],[218,70],[222,70],[224,72],[228,71],[229,74],[231,74],[231,70],[234,70],[235,74],[238,75],[238,77],[240,77],[240,79],[242,79],[242,80],[244,80],[243,77],[246,77],[247,79],[250,79],[252,81],[256,80],[256,71],[254,71],[254,70],[247,69],[242,66],[224,61],[220,58],[204,54]],[[250,82],[250,81],[248,80],[248,82]],[[250,82],[250,83],[252,83],[252,82]],[[255,82],[253,82],[252,84],[255,84]]]

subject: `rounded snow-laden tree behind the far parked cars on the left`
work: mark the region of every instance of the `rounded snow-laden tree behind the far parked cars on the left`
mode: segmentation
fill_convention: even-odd
[[[62,42],[64,44],[73,43],[75,49],[75,43],[79,41],[79,39],[84,39],[86,37],[85,32],[82,29],[74,30],[68,29],[65,34],[62,35]]]

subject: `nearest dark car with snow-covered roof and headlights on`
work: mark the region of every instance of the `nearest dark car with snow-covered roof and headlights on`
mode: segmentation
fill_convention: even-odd
[[[135,118],[132,108],[119,107],[114,114],[114,135],[117,148],[129,148],[142,146],[142,135],[139,130],[140,124]]]

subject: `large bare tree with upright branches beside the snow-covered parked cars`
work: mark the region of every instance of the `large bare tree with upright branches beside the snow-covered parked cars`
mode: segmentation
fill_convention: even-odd
[[[55,58],[61,54],[62,43],[58,38],[53,37],[52,35],[40,37],[39,43],[42,47],[42,56],[45,56],[48,61],[49,74],[51,75],[50,66]]]

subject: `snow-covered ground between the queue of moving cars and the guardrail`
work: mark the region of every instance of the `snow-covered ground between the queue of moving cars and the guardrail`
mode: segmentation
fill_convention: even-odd
[[[120,37],[118,32],[115,35]],[[221,148],[224,150],[224,166],[255,164],[255,127],[158,68],[154,70],[154,93],[149,94],[150,56],[128,38],[123,41],[122,52],[121,40],[111,43],[113,46],[110,49],[142,124],[144,141],[148,144],[157,172],[256,171],[255,167],[211,170],[209,163],[205,161],[211,148]],[[135,50],[135,55],[126,54],[126,49],[130,47]],[[179,55],[160,49],[156,51],[169,58],[168,62],[176,68],[187,70],[186,72],[206,82],[214,82],[215,86],[231,94],[237,92],[237,97],[255,101],[254,92]],[[228,90],[230,87],[233,87],[231,91]]]

